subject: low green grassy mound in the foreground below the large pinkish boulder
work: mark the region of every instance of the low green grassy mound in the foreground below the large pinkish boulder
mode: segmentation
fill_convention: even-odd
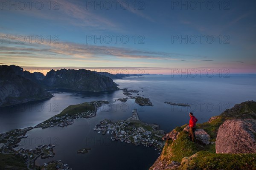
[[[227,154],[200,151],[184,158],[179,170],[256,170],[256,153]]]

